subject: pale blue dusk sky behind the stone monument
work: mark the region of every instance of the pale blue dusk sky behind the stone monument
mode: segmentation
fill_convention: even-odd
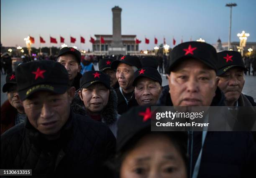
[[[237,33],[250,33],[248,42],[256,42],[256,0],[1,0],[1,43],[3,46],[22,46],[28,35],[35,38],[32,47],[39,47],[39,34],[50,46],[49,36],[65,38],[68,46],[80,48],[80,35],[86,40],[81,47],[92,49],[89,42],[94,34],[112,34],[112,11],[122,8],[123,35],[137,35],[140,50],[153,49],[154,36],[158,42],[171,47],[176,43],[203,38],[213,44],[218,38],[228,42],[230,8],[226,3],[237,3],[232,11],[231,41],[238,41]],[[77,43],[70,45],[70,37]],[[145,44],[145,36],[150,44]]]

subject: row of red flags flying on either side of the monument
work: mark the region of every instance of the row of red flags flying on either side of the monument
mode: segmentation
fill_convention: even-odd
[[[29,36],[29,40],[31,41],[31,43],[35,43],[35,38]],[[72,36],[70,36],[70,43],[75,43],[76,40],[77,40],[76,38],[73,38]],[[60,36],[60,43],[64,43],[64,41],[65,41],[65,38]],[[190,41],[191,41],[191,39],[190,39]],[[95,39],[90,37],[90,42],[95,43]],[[41,37],[41,36],[40,36],[40,43],[45,43],[44,38]],[[50,43],[58,43],[58,42],[57,42],[56,38],[53,38],[53,37],[50,36]],[[83,38],[82,36],[80,36],[80,43],[85,43],[85,38]],[[104,40],[103,37],[100,37],[100,43],[103,43],[103,44],[105,43],[105,40]],[[139,43],[141,43],[141,41],[136,38],[135,43],[139,44]],[[145,38],[145,43],[149,44],[149,39],[148,38]],[[158,43],[157,38],[154,38],[154,43],[155,44]],[[176,40],[174,38],[172,38],[172,43],[173,43],[173,45],[176,44]],[[183,40],[181,40],[181,43],[183,43]],[[164,38],[164,44],[166,44],[165,38]]]

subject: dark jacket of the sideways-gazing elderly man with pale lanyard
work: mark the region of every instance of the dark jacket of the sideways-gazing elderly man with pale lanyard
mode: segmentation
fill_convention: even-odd
[[[125,97],[120,92],[120,88],[115,89],[115,92],[118,96],[118,114],[123,114],[124,112],[127,112],[131,107],[138,106],[134,93],[131,97],[131,100],[126,103]]]

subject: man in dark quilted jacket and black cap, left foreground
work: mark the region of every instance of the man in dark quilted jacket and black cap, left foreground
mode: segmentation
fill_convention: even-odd
[[[37,177],[99,176],[115,137],[105,124],[72,112],[75,88],[65,67],[33,61],[15,73],[27,120],[1,136],[0,168],[32,169]]]

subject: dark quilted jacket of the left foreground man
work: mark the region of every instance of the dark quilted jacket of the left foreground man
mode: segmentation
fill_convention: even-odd
[[[6,131],[1,169],[32,169],[37,177],[103,177],[102,162],[114,150],[115,137],[105,124],[70,112],[57,140],[44,139],[28,120]]]

